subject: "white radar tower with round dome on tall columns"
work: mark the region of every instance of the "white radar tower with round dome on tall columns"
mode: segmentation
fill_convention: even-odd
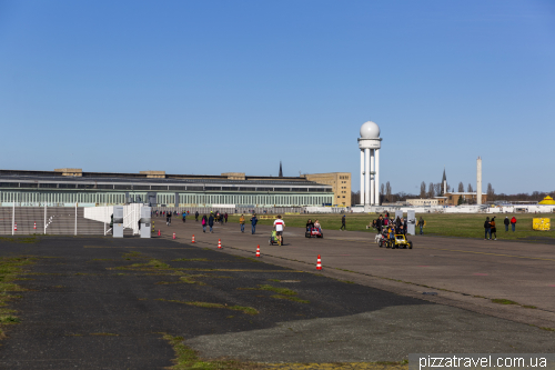
[[[380,127],[372,121],[361,127],[361,203],[380,206]]]

